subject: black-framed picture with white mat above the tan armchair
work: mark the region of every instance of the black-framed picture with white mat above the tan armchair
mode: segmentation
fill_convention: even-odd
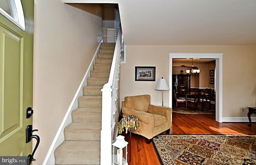
[[[156,67],[135,67],[135,81],[156,81]]]

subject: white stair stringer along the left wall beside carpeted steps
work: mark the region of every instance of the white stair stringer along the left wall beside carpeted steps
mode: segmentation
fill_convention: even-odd
[[[44,158],[44,162],[42,165],[54,165],[55,164],[55,158],[54,158],[54,151],[55,149],[65,140],[64,138],[64,128],[68,126],[70,123],[72,123],[72,111],[78,108],[78,97],[83,96],[83,87],[87,86],[87,78],[90,78],[90,71],[93,70],[93,64],[95,64],[95,59],[97,58],[98,53],[100,52],[100,46],[102,42],[99,43],[96,52],[94,53],[94,56],[92,57],[92,60],[90,62],[90,65],[84,74],[84,77],[78,86],[78,89],[76,91],[76,94],[74,95],[74,98],[72,99],[72,102],[62,120],[62,123],[60,124],[60,127],[55,135],[55,138],[52,141],[52,144],[48,150],[48,153],[46,154],[46,157]]]

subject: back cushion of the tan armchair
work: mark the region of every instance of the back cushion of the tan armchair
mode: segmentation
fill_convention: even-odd
[[[127,108],[148,112],[148,106],[150,105],[150,95],[145,94],[140,96],[126,96],[124,98],[124,104]]]

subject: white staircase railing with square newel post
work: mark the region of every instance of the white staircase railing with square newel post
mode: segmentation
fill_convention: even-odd
[[[122,30],[118,30],[114,57],[110,70],[108,83],[102,88],[102,128],[100,139],[100,165],[113,165],[113,139],[116,125],[116,111],[119,114],[118,83],[121,63]]]

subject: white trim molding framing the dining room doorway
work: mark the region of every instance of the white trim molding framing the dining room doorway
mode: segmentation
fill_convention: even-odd
[[[224,53],[169,53],[169,87],[172,91],[172,59],[200,58],[200,59],[216,59],[216,75],[215,75],[215,90],[216,90],[216,116],[217,122],[222,120],[222,70],[223,70],[223,54]],[[169,105],[172,108],[172,92],[169,92]]]

